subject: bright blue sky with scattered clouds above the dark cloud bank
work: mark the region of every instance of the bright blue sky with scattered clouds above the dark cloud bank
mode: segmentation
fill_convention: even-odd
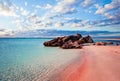
[[[0,0],[0,36],[39,29],[120,32],[120,0]]]

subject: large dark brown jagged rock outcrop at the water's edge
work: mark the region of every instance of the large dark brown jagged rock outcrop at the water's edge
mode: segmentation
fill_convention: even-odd
[[[63,49],[73,49],[73,48],[82,48],[83,43],[93,43],[92,38],[88,35],[86,37],[82,37],[81,34],[58,37],[53,40],[44,42],[44,46],[53,46],[53,47],[61,47]]]

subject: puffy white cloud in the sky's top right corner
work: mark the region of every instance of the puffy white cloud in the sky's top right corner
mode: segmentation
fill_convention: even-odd
[[[107,19],[118,19],[120,17],[118,15],[115,15],[120,9],[120,0],[113,0],[111,3],[105,4],[103,7],[96,4],[95,7],[97,8],[95,14],[103,15]]]

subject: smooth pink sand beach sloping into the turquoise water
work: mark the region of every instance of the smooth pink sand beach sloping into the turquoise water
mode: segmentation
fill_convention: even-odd
[[[49,81],[120,81],[120,46],[85,46],[66,68]]]

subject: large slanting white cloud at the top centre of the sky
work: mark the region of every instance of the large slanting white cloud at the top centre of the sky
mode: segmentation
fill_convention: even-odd
[[[55,6],[52,6],[52,8],[44,15],[44,18],[62,17],[66,14],[76,13],[76,6],[79,2],[80,0],[60,0]]]

